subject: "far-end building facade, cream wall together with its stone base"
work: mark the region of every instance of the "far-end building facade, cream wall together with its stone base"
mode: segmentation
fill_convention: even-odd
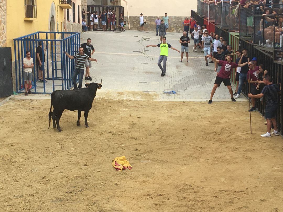
[[[139,16],[142,13],[146,19],[144,27],[146,31],[155,31],[156,17],[160,16],[162,18],[167,13],[170,21],[168,32],[183,32],[184,27],[182,23],[185,17],[190,16],[191,10],[197,8],[197,1],[184,0],[113,0],[111,4],[125,8],[124,20],[129,19],[130,29],[133,30],[140,30]]]

